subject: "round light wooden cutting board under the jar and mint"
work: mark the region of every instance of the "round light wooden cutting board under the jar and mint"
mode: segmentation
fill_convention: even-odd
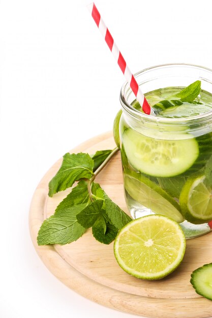
[[[71,152],[95,153],[115,147],[112,133],[90,139]],[[48,197],[48,183],[62,163],[58,160],[39,183],[29,211],[29,228],[34,246],[47,268],[82,296],[116,310],[148,317],[203,318],[212,316],[212,301],[196,294],[190,284],[192,271],[212,262],[212,233],[187,240],[183,263],[169,276],[145,281],[120,268],[113,255],[113,243],[96,241],[87,230],[67,245],[38,246],[37,234],[43,220],[54,213],[70,189]],[[120,154],[117,153],[96,178],[107,195],[125,212]]]

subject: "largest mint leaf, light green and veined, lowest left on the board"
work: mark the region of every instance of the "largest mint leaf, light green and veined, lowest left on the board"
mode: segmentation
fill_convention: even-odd
[[[80,204],[66,210],[59,210],[56,215],[44,220],[38,232],[38,245],[63,245],[76,241],[85,232],[76,219],[76,215],[85,206],[86,204]]]

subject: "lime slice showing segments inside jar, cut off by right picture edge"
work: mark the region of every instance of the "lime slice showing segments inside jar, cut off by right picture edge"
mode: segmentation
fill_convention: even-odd
[[[212,219],[212,187],[205,175],[188,178],[179,197],[181,212],[193,224]]]

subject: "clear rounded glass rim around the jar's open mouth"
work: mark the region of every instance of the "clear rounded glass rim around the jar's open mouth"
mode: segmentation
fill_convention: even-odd
[[[165,64],[160,64],[160,65],[156,65],[156,66],[152,66],[146,69],[143,69],[141,71],[138,71],[137,73],[134,74],[134,77],[138,77],[139,75],[146,73],[148,71],[151,70],[157,70],[157,69],[163,69],[164,67],[192,67],[194,69],[201,69],[201,70],[205,70],[209,73],[211,73],[211,77],[212,77],[212,70],[200,65],[195,65],[195,64],[190,64],[190,63],[165,63]],[[208,81],[210,82],[210,81]],[[212,84],[212,81],[210,82]],[[124,110],[132,115],[133,117],[139,118],[139,119],[143,119],[145,121],[150,121],[150,122],[155,122],[155,123],[165,123],[165,124],[182,124],[182,123],[187,123],[188,121],[191,122],[196,122],[196,121],[204,121],[204,120],[209,120],[212,118],[212,111],[201,114],[201,115],[196,115],[196,116],[191,116],[191,117],[181,117],[181,118],[167,118],[167,117],[157,117],[154,115],[148,115],[145,113],[140,112],[139,110],[133,108],[127,101],[126,97],[125,97],[125,90],[127,89],[127,87],[130,88],[130,84],[125,81],[124,84],[122,85],[122,88],[120,90],[120,103],[122,105],[122,107],[124,108]],[[131,88],[130,88],[131,89]]]

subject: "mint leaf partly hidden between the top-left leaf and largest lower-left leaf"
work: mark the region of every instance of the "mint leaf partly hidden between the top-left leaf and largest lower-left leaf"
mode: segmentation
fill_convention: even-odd
[[[89,201],[89,194],[87,191],[87,182],[79,181],[77,186],[73,187],[72,192],[59,203],[56,207],[55,213],[59,210],[70,208],[74,205],[87,203]]]

